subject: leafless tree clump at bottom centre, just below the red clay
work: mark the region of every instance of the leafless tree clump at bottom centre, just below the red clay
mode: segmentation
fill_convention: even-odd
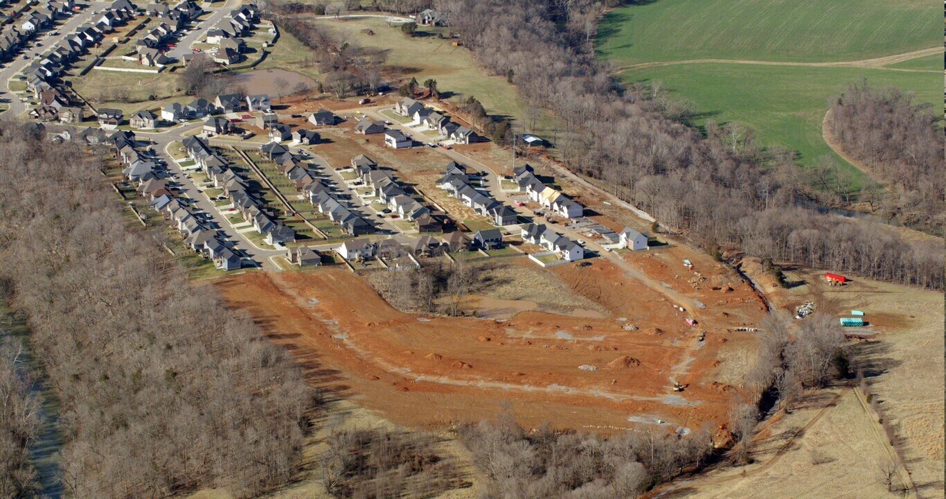
[[[497,499],[639,497],[712,451],[707,427],[688,437],[656,430],[604,438],[547,425],[527,433],[509,411],[459,433],[491,479],[482,497]]]

